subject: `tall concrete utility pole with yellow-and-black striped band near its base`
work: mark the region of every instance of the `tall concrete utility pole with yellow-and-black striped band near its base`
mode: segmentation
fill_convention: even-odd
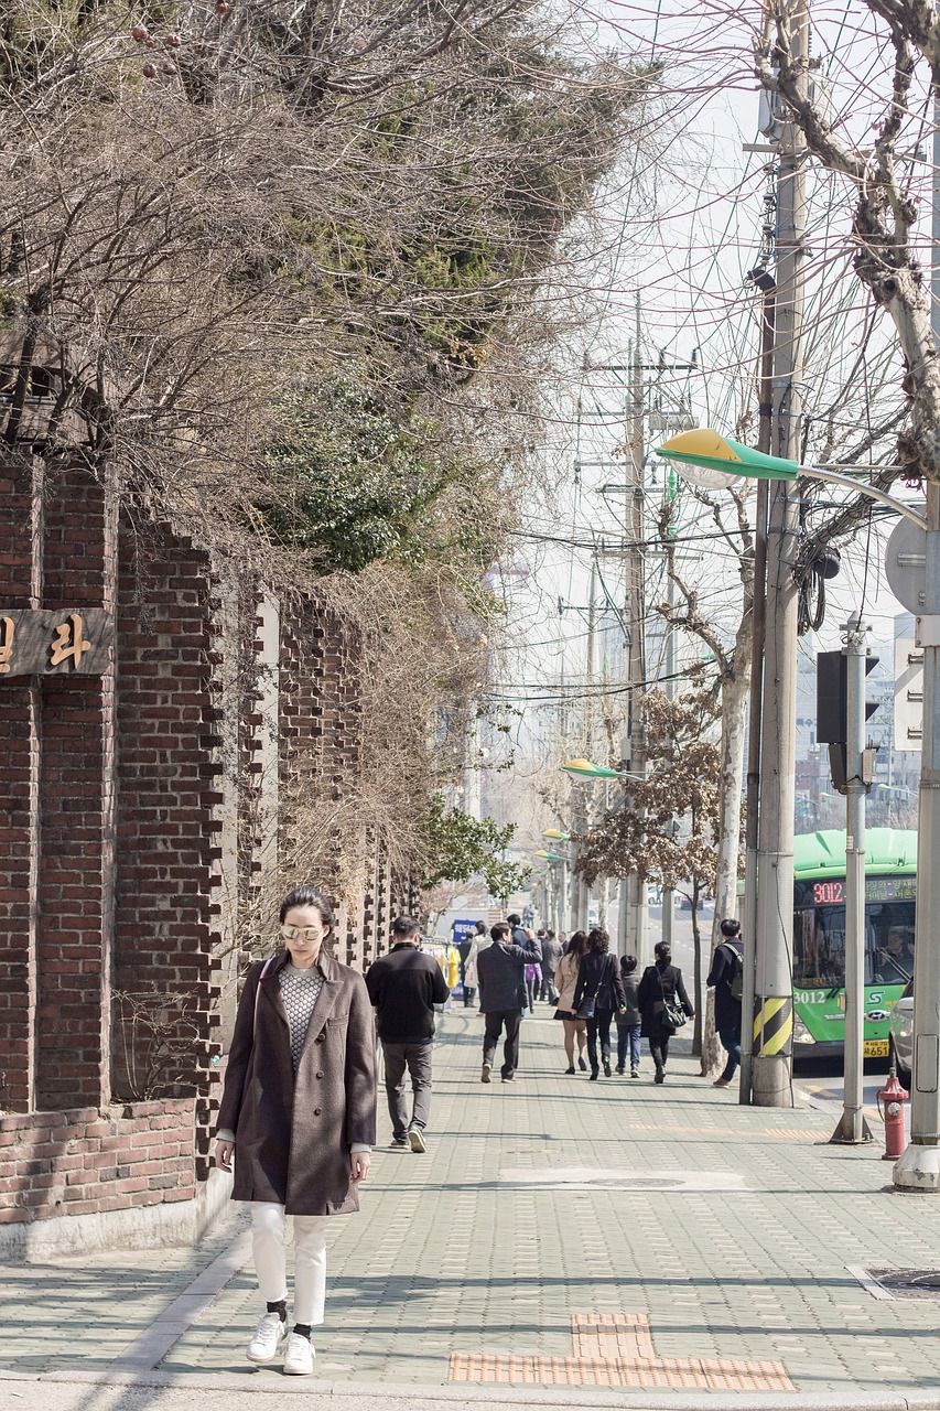
[[[806,0],[790,11],[790,54],[807,83]],[[781,134],[776,205],[776,325],[773,357],[773,454],[800,460],[803,409],[803,258],[806,144],[796,123]],[[796,556],[799,492],[786,481],[771,490],[768,615],[764,655],[761,810],[751,1101],[759,1108],[793,1103],[793,811],[796,753]],[[747,1022],[747,1016],[745,1016]]]

